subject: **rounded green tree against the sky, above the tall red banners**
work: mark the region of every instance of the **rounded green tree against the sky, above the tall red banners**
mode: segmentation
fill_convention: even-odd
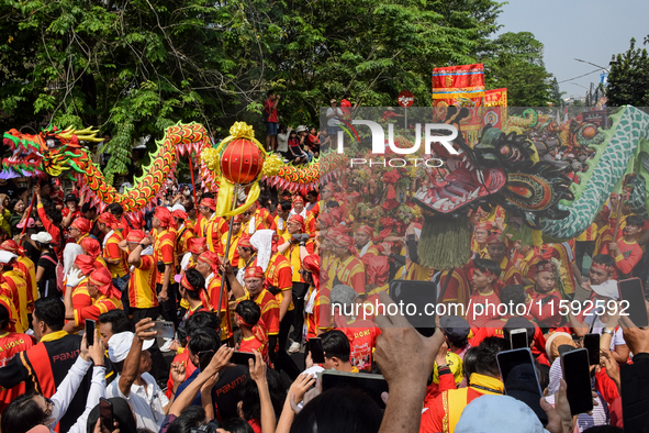
[[[553,102],[552,75],[544,64],[544,44],[529,32],[503,33],[483,54],[488,89],[507,88],[511,107],[546,107]]]

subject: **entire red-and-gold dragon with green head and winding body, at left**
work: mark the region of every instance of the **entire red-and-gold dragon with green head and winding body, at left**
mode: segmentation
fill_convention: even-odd
[[[44,129],[40,134],[23,134],[16,130],[4,133],[4,145],[13,154],[2,160],[3,177],[38,176],[53,177],[67,175],[79,182],[79,189],[86,192],[93,204],[103,209],[110,203],[120,203],[125,212],[137,212],[155,206],[164,191],[167,178],[174,177],[180,155],[197,154],[212,146],[212,141],[204,126],[199,123],[178,123],[167,127],[161,140],[156,141],[157,149],[150,157],[148,167],[143,167],[144,175],[134,179],[134,187],[123,193],[108,185],[99,167],[90,159],[80,141],[100,142],[97,131],[91,129],[60,130],[56,126]],[[127,155],[123,155],[127,157]],[[313,189],[317,186],[320,163],[294,167],[279,160],[275,175],[267,180],[284,189]],[[217,179],[204,163],[200,164],[203,186],[214,189]]]

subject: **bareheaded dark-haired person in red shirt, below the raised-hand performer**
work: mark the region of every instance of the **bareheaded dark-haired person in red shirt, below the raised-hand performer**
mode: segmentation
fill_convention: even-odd
[[[261,321],[261,309],[253,301],[240,301],[234,310],[234,320],[242,332],[239,352],[259,352],[264,362],[272,367],[268,356],[268,331]]]

